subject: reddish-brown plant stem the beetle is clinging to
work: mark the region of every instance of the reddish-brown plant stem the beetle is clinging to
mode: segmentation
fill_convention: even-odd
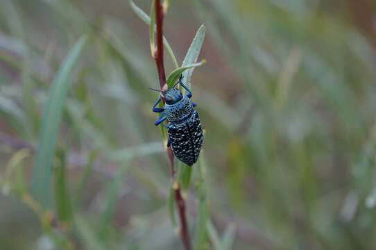
[[[155,63],[157,64],[157,71],[158,76],[160,79],[160,88],[164,88],[166,84],[166,74],[164,73],[164,62],[163,62],[163,31],[162,31],[162,24],[163,24],[163,10],[162,5],[160,4],[160,0],[155,0],[155,25],[157,26],[157,51],[155,53]],[[170,163],[170,173],[171,173],[171,181],[173,183],[174,194],[175,194],[175,202],[178,208],[178,215],[180,218],[180,238],[182,240],[182,244],[184,245],[185,250],[191,249],[191,244],[189,240],[189,231],[188,231],[188,222],[187,222],[187,215],[185,209],[185,200],[182,197],[180,191],[180,185],[175,183],[175,167],[173,163],[173,151],[171,146],[167,148],[167,155],[169,156],[169,163]]]

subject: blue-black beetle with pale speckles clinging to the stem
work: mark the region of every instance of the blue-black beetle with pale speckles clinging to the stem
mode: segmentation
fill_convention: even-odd
[[[203,128],[198,112],[194,110],[196,103],[190,100],[192,92],[182,83],[182,78],[183,76],[180,76],[179,81],[173,85],[173,88],[165,91],[155,90],[161,92],[161,94],[154,103],[153,112],[161,113],[155,122],[155,126],[162,124],[164,120],[168,122],[166,125],[169,137],[167,147],[171,145],[176,158],[192,166],[196,163],[203,145]],[[187,95],[182,94],[180,89],[175,88],[178,84],[187,90]],[[157,108],[162,99],[164,100],[164,107]]]

